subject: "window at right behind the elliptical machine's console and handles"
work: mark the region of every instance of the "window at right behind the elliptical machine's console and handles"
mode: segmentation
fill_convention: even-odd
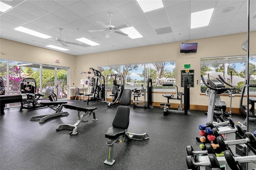
[[[246,55],[202,58],[201,75],[204,76],[205,80],[208,78],[216,78],[218,75],[221,75],[222,77],[225,77],[225,80],[228,83],[236,87],[232,93],[240,94],[246,79],[246,58]],[[256,58],[254,61],[256,61]],[[249,70],[251,74],[256,75],[256,66],[251,62]],[[231,71],[232,79],[230,76]],[[201,93],[204,93],[206,89],[207,87],[201,81]]]

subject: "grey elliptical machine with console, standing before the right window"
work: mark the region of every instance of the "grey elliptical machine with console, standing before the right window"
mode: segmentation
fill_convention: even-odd
[[[231,111],[226,112],[226,103],[225,101],[220,100],[220,94],[224,93],[225,91],[232,91],[233,89],[235,89],[235,87],[230,83],[226,82],[223,77],[221,77],[221,75],[218,76],[219,78],[217,79],[207,79],[206,83],[203,75],[201,75],[203,83],[206,85],[206,87],[208,87],[208,89],[210,89],[207,122],[213,122],[213,117],[216,118],[217,123],[227,121],[225,117],[231,117]],[[230,87],[225,87],[225,85],[228,85]],[[232,99],[232,93],[230,97]]]

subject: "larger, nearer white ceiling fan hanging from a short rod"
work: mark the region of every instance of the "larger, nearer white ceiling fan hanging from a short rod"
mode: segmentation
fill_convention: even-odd
[[[103,22],[100,22],[100,21],[97,22],[98,24],[100,24],[101,26],[103,26],[105,28],[104,30],[89,30],[89,32],[101,32],[101,31],[104,31],[104,32],[107,33],[105,38],[110,38],[110,34],[112,32],[120,34],[122,36],[128,36],[128,34],[125,34],[123,32],[117,31],[117,30],[120,30],[122,28],[127,28],[128,25],[127,24],[122,24],[120,26],[115,27],[115,26],[111,25],[111,17],[113,16],[113,14],[111,12],[109,12],[108,16],[110,18],[110,24],[109,25],[106,25],[106,24],[104,24]]]

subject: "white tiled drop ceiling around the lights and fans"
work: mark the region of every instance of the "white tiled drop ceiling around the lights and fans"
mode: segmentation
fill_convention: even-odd
[[[58,28],[63,28],[61,37],[66,41],[78,42],[75,39],[84,37],[100,44],[96,47],[86,47],[78,42],[85,47],[69,45],[67,47],[69,51],[61,51],[82,55],[247,32],[247,0],[162,1],[164,8],[146,13],[143,13],[136,0],[4,1],[16,8],[0,13],[0,37],[46,48],[45,45],[55,43],[55,38],[60,36]],[[209,8],[215,8],[210,25],[191,30],[190,14]],[[228,11],[229,9],[232,10]],[[250,9],[250,18],[252,18],[250,31],[255,31],[256,18],[253,17],[256,15],[256,1],[250,1]],[[103,31],[105,28],[98,21],[109,25],[109,12],[113,14],[112,25],[119,26],[125,23],[133,26],[143,38],[130,39],[115,33],[111,33],[110,38],[105,38],[106,32]],[[52,38],[44,40],[13,30],[18,26],[39,31]],[[164,32],[166,28],[172,32]],[[89,32],[89,30],[100,30],[100,32]]]

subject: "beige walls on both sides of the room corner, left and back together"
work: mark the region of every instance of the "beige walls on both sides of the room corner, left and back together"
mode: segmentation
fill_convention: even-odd
[[[98,66],[159,61],[176,61],[176,84],[180,87],[180,70],[184,69],[184,64],[190,64],[190,69],[194,69],[195,80],[194,88],[190,88],[190,104],[206,106],[208,105],[208,97],[200,95],[200,83],[196,85],[196,80],[200,82],[200,58],[247,54],[241,48],[242,43],[247,40],[247,33],[190,40],[188,42],[198,42],[198,49],[196,53],[187,54],[180,53],[181,42],[73,56],[10,40],[0,40],[1,51],[5,52],[4,55],[1,54],[3,59],[70,67],[70,87],[82,87],[80,79],[83,77],[80,73],[82,71],[89,71],[90,67],[97,69]],[[255,47],[256,32],[251,32],[251,55],[256,54]],[[60,63],[55,63],[55,59],[60,59]],[[183,89],[180,87],[179,91],[183,91]],[[230,105],[229,97],[221,98],[226,101],[227,106]],[[162,94],[154,94],[154,101],[166,102],[166,99],[162,97]],[[239,108],[239,102],[240,98],[235,97],[232,101],[232,107]]]

